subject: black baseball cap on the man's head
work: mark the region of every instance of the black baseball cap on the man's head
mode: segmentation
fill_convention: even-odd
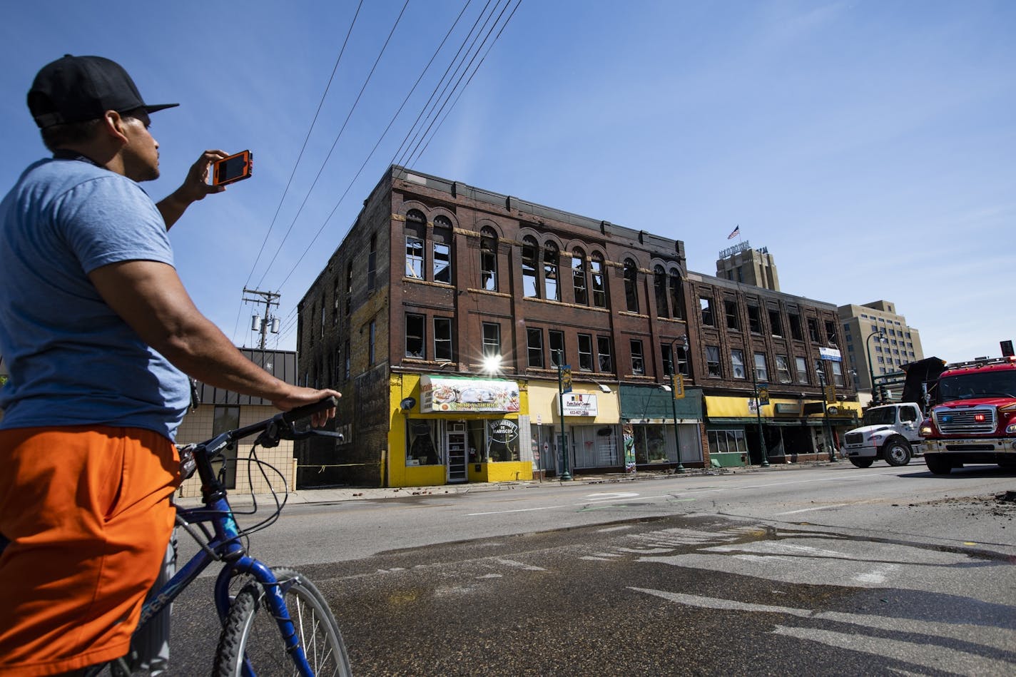
[[[154,113],[179,105],[145,104],[123,66],[96,56],[65,54],[43,66],[28,90],[28,110],[40,128],[97,120],[106,111]]]

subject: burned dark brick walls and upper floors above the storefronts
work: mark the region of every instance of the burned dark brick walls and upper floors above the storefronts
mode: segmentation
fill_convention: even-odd
[[[702,299],[712,302],[711,324]],[[348,432],[337,447],[298,445],[301,484],[383,484],[399,416],[390,382],[479,374],[485,344],[502,356],[503,377],[520,382],[556,382],[560,348],[578,383],[654,388],[677,354],[686,386],[742,398],[754,386],[750,372],[737,377],[732,350],[746,363],[759,352],[770,394],[801,402],[822,392],[818,348],[839,345],[834,305],[689,271],[680,240],[399,167],[372,191],[298,310],[301,382],[342,392],[336,425]],[[807,378],[780,382],[777,355],[791,375],[804,359]],[[852,398],[850,379],[839,392]],[[707,443],[705,426],[701,437]]]

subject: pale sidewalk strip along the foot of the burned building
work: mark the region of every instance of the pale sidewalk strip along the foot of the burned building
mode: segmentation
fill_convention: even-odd
[[[838,464],[847,463],[844,460]],[[556,485],[605,485],[624,484],[629,482],[646,482],[672,477],[701,477],[713,475],[734,475],[737,473],[772,473],[776,471],[797,470],[801,468],[816,468],[833,465],[828,460],[805,461],[798,464],[772,464],[768,467],[749,466],[747,468],[691,468],[684,474],[669,471],[639,471],[637,473],[602,473],[597,475],[577,475],[571,482],[561,482],[557,479],[521,480],[517,482],[470,482],[468,484],[443,484],[434,487],[335,487],[325,489],[299,489],[291,491],[285,497],[287,504],[297,503],[339,503],[353,500],[380,500],[385,498],[404,498],[408,496],[441,496],[444,494],[468,494],[478,491],[514,491],[518,489],[538,489]],[[848,463],[847,463],[848,465]],[[282,496],[279,495],[279,500]],[[272,504],[271,494],[230,494],[233,505]],[[197,507],[201,499],[196,497],[175,497],[174,502],[181,507]]]

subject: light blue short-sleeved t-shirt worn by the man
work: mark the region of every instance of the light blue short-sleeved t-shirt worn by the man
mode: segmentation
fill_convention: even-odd
[[[31,165],[0,202],[0,428],[111,425],[174,439],[187,377],[103,301],[87,278],[118,261],[173,264],[141,187],[79,160]]]

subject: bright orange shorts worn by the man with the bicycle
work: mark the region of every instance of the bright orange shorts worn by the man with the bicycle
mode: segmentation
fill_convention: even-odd
[[[0,430],[0,674],[127,654],[163,564],[176,447],[137,428]]]

